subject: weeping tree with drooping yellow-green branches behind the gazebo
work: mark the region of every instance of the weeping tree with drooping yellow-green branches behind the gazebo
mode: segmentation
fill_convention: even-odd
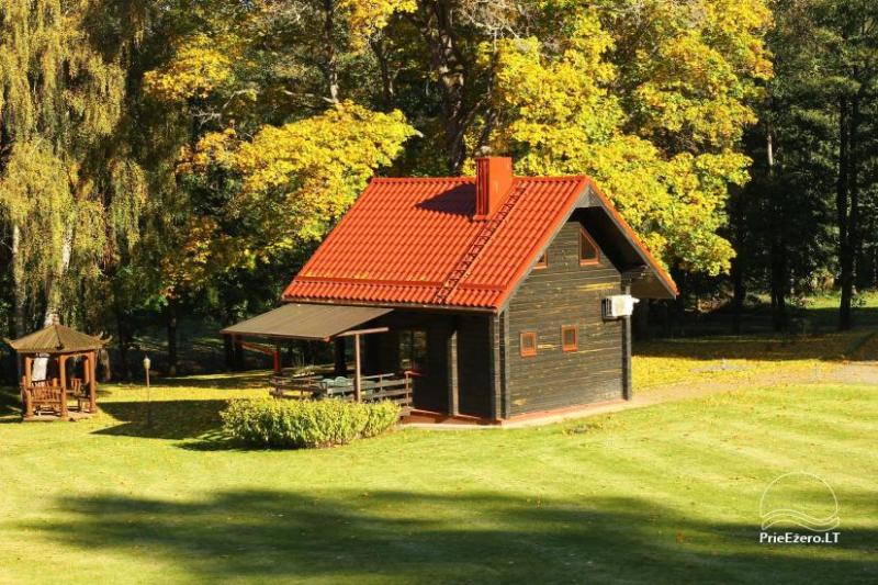
[[[74,315],[74,290],[136,241],[144,173],[114,136],[142,23],[128,2],[0,5],[0,227],[16,335],[41,314]]]

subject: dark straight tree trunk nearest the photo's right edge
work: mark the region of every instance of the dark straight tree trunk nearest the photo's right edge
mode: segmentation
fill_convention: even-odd
[[[849,190],[849,117],[847,98],[838,102],[838,183],[835,195],[835,211],[838,222],[838,265],[842,299],[838,304],[838,328],[851,328],[851,300],[854,288],[854,258],[851,247],[848,224]]]

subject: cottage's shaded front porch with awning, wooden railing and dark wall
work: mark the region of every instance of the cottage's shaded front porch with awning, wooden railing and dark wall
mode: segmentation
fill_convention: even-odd
[[[417,416],[419,421],[486,424],[503,418],[499,348],[493,340],[504,338],[496,316],[291,303],[222,333],[273,357],[268,383],[277,397],[393,400],[406,418]],[[262,345],[250,342],[252,338],[261,338]],[[335,368],[303,375],[283,371],[281,348],[295,339],[333,344]]]

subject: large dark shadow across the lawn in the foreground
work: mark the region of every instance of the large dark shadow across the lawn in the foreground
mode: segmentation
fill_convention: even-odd
[[[651,500],[232,491],[201,502],[68,497],[21,528],[92,554],[149,556],[201,582],[875,583],[874,530],[835,545],[766,545],[753,524]],[[694,513],[697,510],[693,510]],[[136,551],[136,552],[135,552]]]

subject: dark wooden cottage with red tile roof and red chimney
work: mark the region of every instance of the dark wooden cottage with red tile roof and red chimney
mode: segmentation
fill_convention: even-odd
[[[476,168],[372,180],[284,291],[283,315],[226,333],[373,334],[357,344],[358,378],[407,372],[415,412],[437,419],[630,398],[626,295],[672,299],[674,282],[590,178],[514,177],[500,157]]]

